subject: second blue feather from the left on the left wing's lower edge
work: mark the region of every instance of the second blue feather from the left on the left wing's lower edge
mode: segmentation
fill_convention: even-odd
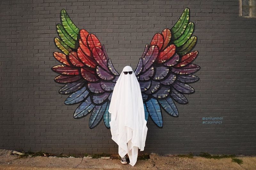
[[[88,97],[83,103],[81,103],[74,112],[74,118],[80,118],[86,116],[90,113],[95,107],[95,104],[92,103],[91,98]]]

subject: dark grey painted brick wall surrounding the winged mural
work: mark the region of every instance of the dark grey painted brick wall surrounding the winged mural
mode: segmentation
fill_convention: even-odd
[[[239,0],[78,1],[0,2],[1,149],[118,154],[103,121],[90,129],[90,116],[74,119],[78,105],[65,105],[68,96],[58,93],[63,85],[51,68],[59,64],[52,53],[60,11],[95,34],[121,72],[135,69],[145,44],[188,7],[200,80],[185,95],[188,104],[176,103],[179,117],[163,113],[163,128],[149,118],[143,153],[255,154],[256,18],[240,17]],[[203,117],[223,117],[222,124],[202,124]]]

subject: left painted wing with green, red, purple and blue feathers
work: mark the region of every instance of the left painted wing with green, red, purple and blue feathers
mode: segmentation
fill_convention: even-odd
[[[97,126],[102,118],[109,128],[108,107],[119,74],[94,34],[77,28],[64,9],[60,18],[59,38],[54,41],[61,52],[54,52],[53,56],[61,65],[52,67],[60,74],[54,80],[65,84],[59,93],[69,95],[67,105],[80,103],[74,118],[91,114],[90,128]]]

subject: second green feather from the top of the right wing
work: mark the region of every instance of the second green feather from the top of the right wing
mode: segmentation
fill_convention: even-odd
[[[188,23],[188,26],[186,30],[183,32],[183,34],[178,39],[173,41],[173,44],[175,44],[177,47],[182,46],[191,37],[193,31],[194,31],[194,23],[190,22]]]

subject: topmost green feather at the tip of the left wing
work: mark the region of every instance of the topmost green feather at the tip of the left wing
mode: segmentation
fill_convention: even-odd
[[[66,30],[66,32],[72,37],[74,40],[78,40],[77,37],[79,35],[79,28],[76,27],[76,25],[72,22],[72,20],[69,18],[67,12],[63,9],[61,10],[60,14],[61,23]]]

